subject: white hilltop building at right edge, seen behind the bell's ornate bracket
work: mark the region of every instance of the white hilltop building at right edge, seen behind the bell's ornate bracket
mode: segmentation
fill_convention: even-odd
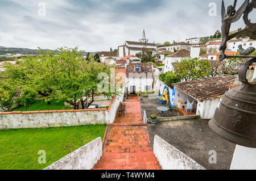
[[[228,43],[227,43],[227,49],[230,50],[230,51],[234,51],[234,52],[237,52],[238,50],[238,45],[242,45],[242,48],[243,49],[247,49],[249,47],[256,47],[256,40],[253,40],[253,39],[232,39],[232,40],[229,40]]]

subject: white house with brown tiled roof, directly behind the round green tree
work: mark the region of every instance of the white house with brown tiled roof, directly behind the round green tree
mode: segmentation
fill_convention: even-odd
[[[183,59],[191,58],[190,52],[185,49],[181,49],[174,54],[170,54],[166,56],[166,60],[164,60],[164,73],[167,71],[173,71],[172,63],[180,62]]]

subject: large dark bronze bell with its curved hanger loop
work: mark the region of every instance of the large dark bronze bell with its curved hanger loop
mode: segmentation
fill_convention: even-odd
[[[242,85],[220,99],[209,127],[235,144],[256,148],[256,84],[249,83],[246,71],[256,58],[245,61],[238,77]]]

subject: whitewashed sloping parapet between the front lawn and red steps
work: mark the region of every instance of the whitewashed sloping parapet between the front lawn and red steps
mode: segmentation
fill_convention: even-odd
[[[102,156],[101,137],[69,153],[44,170],[90,170]]]

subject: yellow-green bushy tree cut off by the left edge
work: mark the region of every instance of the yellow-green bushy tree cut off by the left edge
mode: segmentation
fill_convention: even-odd
[[[11,86],[7,82],[0,81],[0,107],[3,110],[11,111],[17,94],[17,87]]]

